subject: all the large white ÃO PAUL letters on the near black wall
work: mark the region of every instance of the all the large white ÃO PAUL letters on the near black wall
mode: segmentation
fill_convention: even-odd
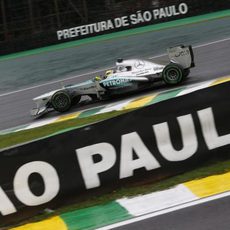
[[[212,108],[197,111],[201,126],[201,134],[208,150],[214,150],[230,144],[229,134],[218,134],[215,117]],[[199,148],[198,134],[192,114],[176,117],[175,121],[181,130],[182,147],[176,149],[170,136],[170,127],[167,122],[153,124],[152,134],[156,139],[156,147],[165,161],[181,162],[195,155]],[[199,134],[200,135],[200,134]],[[141,135],[136,132],[125,133],[120,136],[120,149],[109,142],[77,148],[75,151],[75,164],[79,164],[80,173],[86,189],[97,188],[102,185],[100,175],[112,170],[115,164],[119,164],[118,179],[134,176],[134,171],[144,168],[146,171],[162,167],[145,144]],[[133,158],[133,153],[136,157]],[[119,157],[118,157],[119,156]],[[99,160],[96,160],[96,157]],[[43,192],[35,195],[31,190],[29,178],[32,174],[38,174],[43,181]],[[26,206],[38,206],[53,200],[60,192],[60,173],[58,168],[45,161],[31,161],[22,164],[13,177],[13,191],[22,204]],[[77,183],[77,181],[76,181]],[[17,208],[0,187],[0,213],[9,215],[17,212]]]

